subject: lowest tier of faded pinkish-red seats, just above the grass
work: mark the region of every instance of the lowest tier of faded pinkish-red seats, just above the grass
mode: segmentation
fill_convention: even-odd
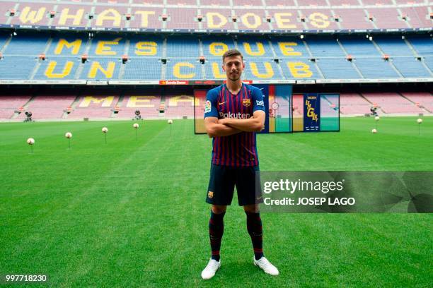
[[[45,95],[0,96],[0,120],[22,121],[25,112],[32,112],[33,119],[133,119],[139,110],[143,119],[192,118],[194,101],[200,106],[200,97],[194,95],[201,90],[177,95],[156,96],[156,93],[132,95],[95,93],[89,95]],[[293,97],[293,114],[300,116],[302,95]],[[335,114],[337,102],[325,99],[323,113]],[[429,92],[361,92],[340,95],[340,113],[344,115],[369,114],[377,107],[379,114],[432,114],[433,95]]]

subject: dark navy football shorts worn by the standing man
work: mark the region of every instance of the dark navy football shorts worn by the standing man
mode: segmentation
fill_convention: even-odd
[[[214,205],[231,205],[236,186],[240,206],[262,203],[260,179],[256,191],[258,171],[258,166],[230,167],[212,164],[206,202]]]

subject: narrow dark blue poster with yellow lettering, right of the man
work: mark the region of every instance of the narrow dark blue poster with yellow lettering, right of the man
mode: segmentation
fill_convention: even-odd
[[[304,132],[321,131],[321,96],[304,94]]]

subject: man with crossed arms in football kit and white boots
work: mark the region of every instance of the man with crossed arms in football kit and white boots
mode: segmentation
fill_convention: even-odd
[[[265,105],[260,89],[241,81],[245,68],[238,50],[223,55],[223,70],[227,82],[209,90],[204,107],[204,126],[212,137],[212,167],[206,202],[212,204],[209,236],[212,258],[202,272],[203,279],[214,277],[221,265],[219,248],[224,232],[224,214],[231,205],[234,187],[238,204],[247,217],[248,234],[254,250],[254,265],[267,274],[278,275],[278,270],[263,256],[262,220],[255,195],[255,172],[258,171],[258,153],[255,133],[265,126]]]

